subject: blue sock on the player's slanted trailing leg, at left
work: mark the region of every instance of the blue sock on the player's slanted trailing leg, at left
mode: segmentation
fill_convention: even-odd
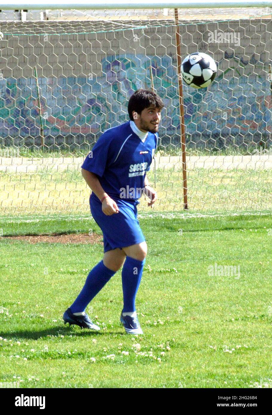
[[[78,297],[71,305],[70,310],[72,313],[83,312],[90,303],[90,301],[96,296],[97,293],[104,287],[104,285],[110,280],[116,271],[112,271],[107,268],[103,261],[100,261],[89,273],[86,283],[79,293]]]

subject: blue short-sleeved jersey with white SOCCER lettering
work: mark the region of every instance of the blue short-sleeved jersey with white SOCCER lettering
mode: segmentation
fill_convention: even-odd
[[[81,167],[98,176],[110,197],[137,200],[142,195],[145,175],[157,145],[157,133],[148,132],[142,141],[128,121],[106,130]]]

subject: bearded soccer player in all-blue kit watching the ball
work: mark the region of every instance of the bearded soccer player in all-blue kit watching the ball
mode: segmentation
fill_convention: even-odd
[[[82,176],[91,188],[93,219],[103,232],[104,256],[88,274],[74,303],[64,312],[65,323],[100,330],[85,312],[88,303],[123,266],[124,306],[120,322],[125,331],[142,334],[135,297],[147,254],[145,237],[137,220],[142,193],[152,206],[156,191],[149,186],[150,169],[158,145],[158,127],[164,104],[154,92],[139,89],[128,103],[130,121],[106,130],[82,164]]]

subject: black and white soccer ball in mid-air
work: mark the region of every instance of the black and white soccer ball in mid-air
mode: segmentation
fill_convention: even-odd
[[[181,75],[193,88],[206,88],[216,77],[216,63],[202,52],[191,53],[181,63]]]

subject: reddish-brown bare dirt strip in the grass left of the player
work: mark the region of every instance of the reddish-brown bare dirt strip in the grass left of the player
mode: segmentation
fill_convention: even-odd
[[[29,244],[37,244],[38,242],[59,242],[61,244],[103,244],[103,236],[97,234],[69,234],[69,235],[24,235],[24,236],[3,236],[0,240],[9,239],[12,241],[25,241]]]

